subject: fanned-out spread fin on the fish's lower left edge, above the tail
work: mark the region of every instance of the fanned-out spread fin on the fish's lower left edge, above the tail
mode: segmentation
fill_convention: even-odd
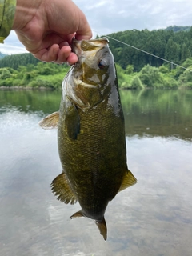
[[[71,205],[74,205],[74,203],[78,201],[73,191],[70,189],[66,174],[63,172],[54,178],[51,183],[51,190],[55,196],[58,196],[57,199],[61,202],[65,202],[66,204],[70,202]]]

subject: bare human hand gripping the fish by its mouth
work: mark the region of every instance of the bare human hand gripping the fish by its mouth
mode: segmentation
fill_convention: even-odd
[[[86,16],[71,0],[17,0],[12,29],[34,57],[71,65],[78,61],[72,39],[92,37]]]

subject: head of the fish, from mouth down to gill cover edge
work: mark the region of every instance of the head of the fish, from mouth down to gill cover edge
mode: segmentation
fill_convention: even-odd
[[[78,62],[63,81],[63,89],[82,109],[96,106],[110,94],[117,81],[114,57],[107,38],[74,40],[72,50]]]

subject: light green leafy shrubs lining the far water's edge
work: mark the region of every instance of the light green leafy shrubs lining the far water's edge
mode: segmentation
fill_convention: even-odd
[[[134,66],[126,66],[123,70],[116,65],[119,88],[122,89],[177,89],[178,87],[192,88],[192,58],[187,59],[175,69],[168,66],[154,67],[149,64],[143,66],[139,72],[134,72]],[[0,87],[15,89],[59,89],[62,80],[70,66],[54,63],[38,62],[18,66],[17,70],[10,67],[0,69]]]

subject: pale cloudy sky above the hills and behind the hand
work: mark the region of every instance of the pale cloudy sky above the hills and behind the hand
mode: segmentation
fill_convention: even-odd
[[[74,0],[86,14],[94,35],[124,30],[158,30],[167,26],[192,26],[191,0]],[[14,31],[0,44],[0,52],[25,52]]]

